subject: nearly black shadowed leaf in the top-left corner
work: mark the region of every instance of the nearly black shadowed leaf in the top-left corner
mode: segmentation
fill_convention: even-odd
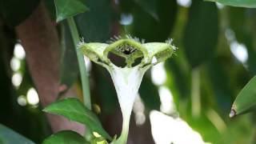
[[[30,16],[39,2],[39,0],[0,0],[0,17],[9,26],[18,26]]]

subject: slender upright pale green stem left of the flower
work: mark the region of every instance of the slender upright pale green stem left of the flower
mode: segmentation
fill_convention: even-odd
[[[91,110],[91,103],[90,103],[90,86],[89,86],[89,80],[88,80],[88,74],[86,74],[86,63],[83,58],[82,52],[77,49],[77,44],[80,41],[78,28],[74,22],[74,18],[67,18],[68,25],[70,27],[70,33],[73,39],[74,48],[77,53],[78,57],[78,66],[81,76],[81,82],[82,82],[82,96],[83,96],[83,102],[84,105]]]

